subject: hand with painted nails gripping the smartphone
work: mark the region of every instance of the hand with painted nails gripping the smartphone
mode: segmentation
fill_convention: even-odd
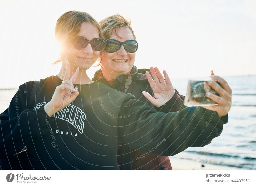
[[[231,108],[231,97],[232,97],[232,90],[229,87],[227,81],[225,81],[223,78],[214,75],[214,73],[211,73],[212,81],[207,81],[207,83],[216,91],[220,96],[214,95],[211,92],[206,93],[206,97],[212,99],[213,103],[217,103],[217,106],[203,106],[206,109],[216,111],[218,113],[218,116],[225,116],[228,114],[228,111]],[[220,85],[218,85],[216,82],[218,81]]]

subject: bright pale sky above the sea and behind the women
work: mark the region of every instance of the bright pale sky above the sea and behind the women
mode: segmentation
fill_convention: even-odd
[[[97,21],[129,18],[138,41],[135,65],[171,79],[256,74],[256,1],[14,1],[0,5],[0,88],[58,74],[57,19],[69,10]],[[88,70],[89,77],[99,67]]]

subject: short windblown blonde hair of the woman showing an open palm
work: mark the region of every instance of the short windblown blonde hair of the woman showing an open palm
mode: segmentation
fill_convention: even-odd
[[[136,40],[136,36],[130,24],[130,20],[125,19],[119,14],[109,16],[100,21],[100,27],[102,28],[102,34],[105,39],[109,39],[113,32],[115,32],[115,34],[117,35],[116,28],[128,27],[131,30],[134,39]]]

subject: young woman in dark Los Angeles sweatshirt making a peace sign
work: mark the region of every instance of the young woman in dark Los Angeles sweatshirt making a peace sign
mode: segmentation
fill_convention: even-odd
[[[0,115],[2,169],[118,170],[118,141],[169,156],[220,135],[230,107],[165,114],[131,94],[91,81],[86,70],[106,43],[100,33],[99,24],[85,12],[69,11],[58,19],[55,36],[62,46],[62,68],[58,75],[41,79],[39,91],[32,91],[34,81],[20,85]],[[227,85],[223,79],[220,84]],[[226,89],[231,91],[228,85]],[[9,161],[24,146],[26,160],[18,159],[18,165]]]

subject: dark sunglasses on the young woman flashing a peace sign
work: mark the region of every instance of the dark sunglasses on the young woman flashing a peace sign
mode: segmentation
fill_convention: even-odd
[[[71,38],[71,43],[73,44],[73,46],[76,49],[79,49],[79,50],[84,49],[90,43],[93,50],[100,51],[100,50],[104,49],[104,47],[107,44],[107,41],[105,39],[101,39],[101,38],[95,38],[95,39],[89,41],[88,39],[86,39],[82,36],[75,36],[75,37]]]

